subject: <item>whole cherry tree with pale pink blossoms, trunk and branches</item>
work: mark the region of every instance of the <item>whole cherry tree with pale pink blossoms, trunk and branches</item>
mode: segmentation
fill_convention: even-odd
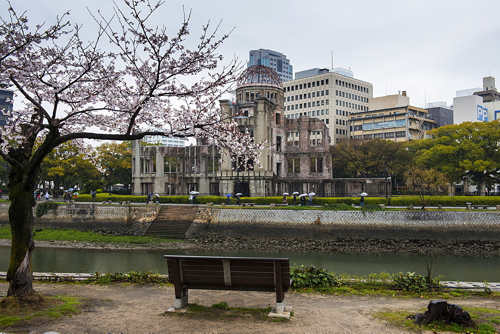
[[[219,65],[217,48],[228,36],[217,37],[218,26],[207,24],[188,48],[190,14],[169,36],[166,27],[148,23],[161,3],[123,2],[111,18],[92,15],[92,41],[66,21],[69,13],[34,29],[26,13],[11,7],[0,18],[0,82],[11,83],[16,103],[23,103],[8,111],[11,121],[0,129],[0,156],[11,166],[8,296],[33,293],[32,192],[40,163],[58,145],[71,140],[84,151],[85,139],[159,134],[216,140],[221,150],[258,161],[262,144],[252,147],[250,135],[217,109],[239,69],[237,60]],[[194,83],[186,83],[190,77]]]

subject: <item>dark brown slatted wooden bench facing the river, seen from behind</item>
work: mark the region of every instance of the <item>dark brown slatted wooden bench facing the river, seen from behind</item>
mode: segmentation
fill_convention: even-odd
[[[168,280],[175,289],[174,312],[187,305],[189,289],[267,291],[276,293],[274,314],[285,309],[284,293],[291,286],[290,264],[285,258],[231,258],[165,255]]]

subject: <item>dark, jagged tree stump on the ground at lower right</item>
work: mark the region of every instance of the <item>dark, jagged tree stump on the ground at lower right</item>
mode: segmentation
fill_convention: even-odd
[[[418,325],[427,325],[432,321],[465,326],[473,325],[468,312],[463,311],[458,305],[448,304],[445,301],[431,301],[427,306],[427,311],[413,316],[413,319]]]

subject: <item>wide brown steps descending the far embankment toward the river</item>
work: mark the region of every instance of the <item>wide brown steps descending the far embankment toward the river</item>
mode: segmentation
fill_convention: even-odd
[[[162,206],[143,236],[184,239],[189,226],[196,216],[197,206],[166,205]]]

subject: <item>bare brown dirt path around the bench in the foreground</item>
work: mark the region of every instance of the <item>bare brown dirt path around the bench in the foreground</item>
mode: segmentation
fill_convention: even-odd
[[[163,316],[173,305],[173,288],[158,285],[95,286],[35,284],[45,295],[72,295],[89,298],[91,304],[79,315],[61,318],[50,324],[29,328],[5,329],[34,333],[159,333],[159,332],[333,332],[333,333],[394,333],[394,328],[373,319],[381,309],[424,308],[428,300],[380,297],[322,296],[288,293],[286,304],[293,307],[289,322],[231,317]],[[7,284],[0,283],[0,291]],[[227,302],[237,307],[267,307],[274,302],[273,294],[253,292],[199,291],[189,292],[189,302],[210,306]],[[464,306],[500,309],[500,301],[467,299],[456,302]]]

